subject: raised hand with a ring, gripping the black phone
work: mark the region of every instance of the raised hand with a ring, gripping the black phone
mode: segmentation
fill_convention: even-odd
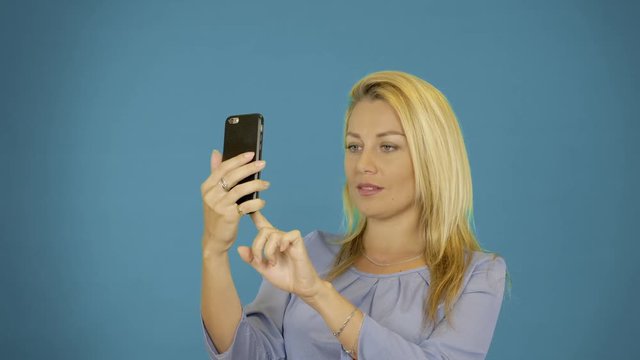
[[[269,187],[264,180],[252,180],[236,186],[240,180],[264,168],[264,161],[249,162],[253,155],[252,152],[244,153],[223,162],[222,154],[217,150],[211,154],[211,175],[200,187],[204,206],[204,256],[226,253],[236,239],[242,215],[258,211],[265,205],[262,199],[236,205],[236,201],[244,195]],[[230,190],[222,187],[223,182]]]

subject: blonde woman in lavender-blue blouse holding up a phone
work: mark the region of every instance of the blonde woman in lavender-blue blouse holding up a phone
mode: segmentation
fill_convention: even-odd
[[[264,200],[236,200],[269,183],[234,185],[264,168],[211,155],[202,184],[202,320],[212,359],[483,359],[498,319],[505,263],[470,227],[471,173],[446,98],[402,72],[351,90],[343,201],[335,236],[282,231]],[[228,251],[243,214],[258,234],[240,257],[263,277],[243,308]]]

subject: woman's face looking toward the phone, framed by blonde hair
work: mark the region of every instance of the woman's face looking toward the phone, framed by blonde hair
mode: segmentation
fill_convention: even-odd
[[[415,210],[407,139],[386,101],[361,100],[352,110],[344,167],[351,201],[368,219]]]

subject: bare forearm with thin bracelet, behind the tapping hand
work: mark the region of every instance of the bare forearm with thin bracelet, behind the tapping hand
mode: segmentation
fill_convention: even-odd
[[[316,296],[305,301],[322,316],[331,332],[340,330],[355,309],[355,313],[338,336],[338,341],[345,349],[357,351],[364,314],[336,291],[330,282],[323,281],[322,285]]]

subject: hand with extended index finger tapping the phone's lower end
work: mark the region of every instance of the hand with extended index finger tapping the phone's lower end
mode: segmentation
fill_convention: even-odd
[[[251,219],[258,235],[250,248],[238,247],[242,260],[281,290],[303,300],[317,295],[323,281],[307,255],[300,232],[283,232],[274,228],[259,211],[251,214]]]

